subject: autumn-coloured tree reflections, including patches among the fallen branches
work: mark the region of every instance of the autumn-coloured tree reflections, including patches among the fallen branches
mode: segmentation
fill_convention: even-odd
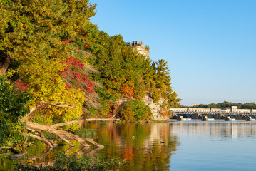
[[[172,124],[96,122],[83,126],[96,130],[96,142],[105,147],[83,148],[76,141],[72,141],[75,145],[73,148],[65,145],[47,151],[46,145],[35,141],[27,149],[28,159],[36,159],[33,161],[34,165],[52,165],[54,155],[65,151],[68,155],[76,153],[78,156],[121,157],[129,163],[121,170],[170,170],[170,158],[178,146],[177,136],[171,135]],[[0,170],[12,170],[14,166],[11,164],[17,162],[23,163],[24,160],[11,161],[0,157]]]

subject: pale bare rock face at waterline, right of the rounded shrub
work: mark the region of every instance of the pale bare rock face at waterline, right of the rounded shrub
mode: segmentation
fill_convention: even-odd
[[[163,103],[163,100],[159,100],[158,103],[154,103],[154,100],[152,98],[150,98],[148,95],[145,95],[143,101],[151,109],[151,112],[153,113],[153,120],[169,120],[168,116],[163,116],[160,114],[160,106],[161,103]]]

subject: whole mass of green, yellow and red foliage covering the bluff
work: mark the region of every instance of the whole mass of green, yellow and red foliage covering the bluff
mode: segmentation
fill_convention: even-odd
[[[152,63],[126,46],[121,35],[99,31],[89,21],[96,5],[88,0],[4,0],[0,5],[0,67],[11,58],[12,81],[31,92],[29,108],[42,100],[74,107],[43,107],[34,122],[51,125],[82,114],[109,117],[118,98],[143,100],[147,91],[155,102],[163,98],[165,108],[178,105],[166,61]]]

